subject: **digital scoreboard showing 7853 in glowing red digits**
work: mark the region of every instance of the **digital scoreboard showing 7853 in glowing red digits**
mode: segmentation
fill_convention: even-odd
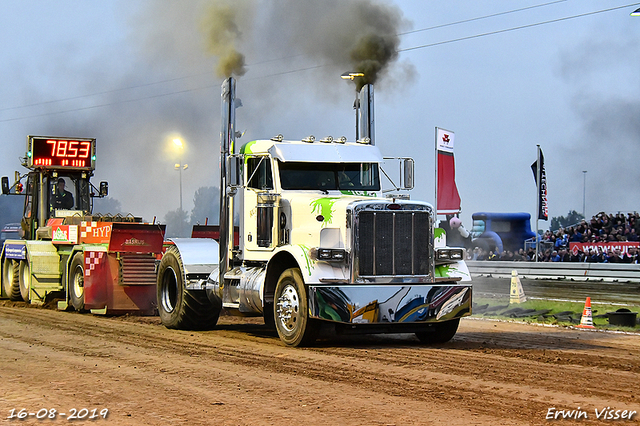
[[[95,164],[95,139],[27,137],[27,167],[30,169],[94,170]]]

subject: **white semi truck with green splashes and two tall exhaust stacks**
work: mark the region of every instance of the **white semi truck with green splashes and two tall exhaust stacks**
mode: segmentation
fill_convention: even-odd
[[[169,241],[157,276],[166,327],[210,329],[224,308],[263,316],[290,346],[311,344],[323,326],[423,342],[455,335],[471,314],[464,251],[436,247],[430,204],[383,197],[371,85],[359,102],[356,141],[278,135],[236,153],[235,80],[224,81],[220,239]],[[409,189],[413,161],[403,164]]]

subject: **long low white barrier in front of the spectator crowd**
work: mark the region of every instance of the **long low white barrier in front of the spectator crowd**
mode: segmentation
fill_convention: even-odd
[[[520,278],[534,280],[640,283],[640,264],[469,260],[467,266],[472,277],[510,278],[516,270]]]

